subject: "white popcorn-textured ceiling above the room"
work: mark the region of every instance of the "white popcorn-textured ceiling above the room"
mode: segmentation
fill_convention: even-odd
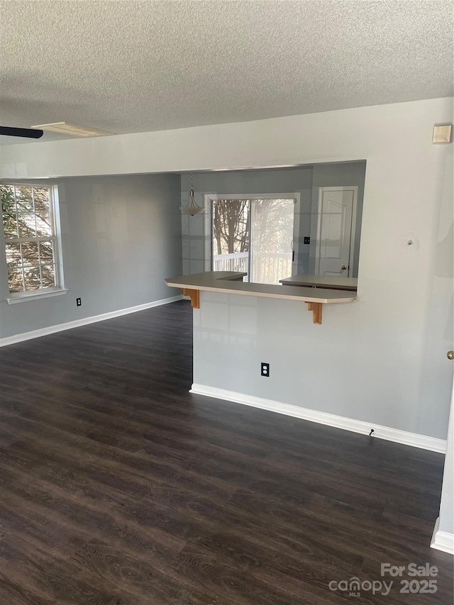
[[[453,94],[450,0],[0,1],[0,40],[3,126],[135,133]]]

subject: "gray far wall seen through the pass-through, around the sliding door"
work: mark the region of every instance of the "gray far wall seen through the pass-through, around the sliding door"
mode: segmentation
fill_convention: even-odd
[[[312,167],[204,172],[194,174],[196,202],[204,204],[204,194],[282,194],[299,193],[300,203],[295,211],[294,248],[299,273],[314,273],[315,233],[319,187],[358,186],[357,231],[353,272],[358,275],[362,199],[364,196],[365,162],[340,162]],[[182,174],[182,204],[187,204],[191,188],[190,174]],[[314,231],[315,225],[315,231]],[[182,216],[182,257],[184,274],[210,269],[209,213]],[[311,245],[304,236],[311,236]]]

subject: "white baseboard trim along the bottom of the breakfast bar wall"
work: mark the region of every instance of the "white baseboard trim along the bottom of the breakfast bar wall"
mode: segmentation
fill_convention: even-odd
[[[423,450],[431,450],[433,452],[446,452],[446,441],[428,437],[427,435],[419,435],[418,433],[408,433],[407,431],[399,431],[397,428],[389,426],[380,426],[375,422],[364,422],[354,420],[353,418],[345,418],[336,416],[332,413],[320,412],[307,408],[300,408],[290,404],[282,404],[280,401],[272,401],[271,399],[262,399],[253,395],[245,395],[216,387],[206,387],[204,384],[193,384],[190,393],[198,395],[206,395],[216,399],[225,399],[233,401],[236,404],[245,406],[253,406],[262,410],[285,414],[286,416],[294,416],[294,418],[302,418],[311,422],[318,422],[336,428],[343,428],[345,431],[353,431],[362,435],[369,435],[370,429],[374,429],[373,436],[395,443],[403,443],[404,445],[412,445],[414,448]]]

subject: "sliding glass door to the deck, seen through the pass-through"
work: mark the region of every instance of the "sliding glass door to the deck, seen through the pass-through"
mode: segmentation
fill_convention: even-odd
[[[292,274],[294,199],[211,200],[211,267],[278,284]]]

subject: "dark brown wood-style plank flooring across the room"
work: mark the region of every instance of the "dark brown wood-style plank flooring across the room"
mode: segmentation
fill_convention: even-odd
[[[1,605],[453,602],[443,456],[189,394],[186,301],[5,347],[0,372]],[[436,565],[438,591],[328,587],[381,562]]]

